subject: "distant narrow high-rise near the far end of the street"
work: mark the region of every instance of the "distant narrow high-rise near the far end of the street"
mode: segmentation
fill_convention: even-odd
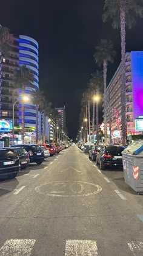
[[[59,129],[65,131],[66,130],[65,107],[58,107],[56,108],[56,111],[58,111],[57,126],[59,127]]]

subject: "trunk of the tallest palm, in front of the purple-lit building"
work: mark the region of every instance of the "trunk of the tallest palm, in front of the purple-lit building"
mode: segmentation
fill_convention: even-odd
[[[127,127],[126,127],[126,96],[125,96],[125,10],[120,10],[121,20],[121,72],[122,72],[122,90],[121,90],[121,104],[122,104],[122,145],[125,146]]]

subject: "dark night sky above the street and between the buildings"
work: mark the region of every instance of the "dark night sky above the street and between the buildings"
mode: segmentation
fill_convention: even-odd
[[[97,66],[93,60],[100,39],[112,40],[117,51],[107,80],[121,61],[119,30],[102,23],[104,0],[4,0],[0,23],[10,32],[39,43],[39,88],[55,107],[67,112],[68,135],[76,137],[82,93]],[[142,51],[143,19],[127,30],[126,51]],[[102,115],[102,113],[100,114]]]

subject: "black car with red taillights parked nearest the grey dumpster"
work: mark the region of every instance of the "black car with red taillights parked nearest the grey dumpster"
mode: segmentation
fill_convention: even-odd
[[[100,165],[101,170],[106,166],[119,166],[122,168],[122,151],[123,146],[107,145],[102,146],[101,150],[96,155],[96,164]]]

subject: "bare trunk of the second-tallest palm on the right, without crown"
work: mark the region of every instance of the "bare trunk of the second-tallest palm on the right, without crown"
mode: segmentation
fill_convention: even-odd
[[[107,144],[107,60],[104,60],[103,63],[103,79],[104,79],[104,137],[105,137],[105,144]]]

